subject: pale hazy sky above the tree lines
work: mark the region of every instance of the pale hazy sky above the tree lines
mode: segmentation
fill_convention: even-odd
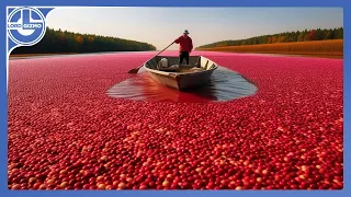
[[[194,47],[305,28],[343,26],[342,8],[59,8],[47,26],[152,44],[163,49],[184,30]],[[177,49],[174,44],[169,49]]]

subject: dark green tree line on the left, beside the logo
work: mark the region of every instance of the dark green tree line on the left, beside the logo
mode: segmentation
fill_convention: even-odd
[[[79,34],[61,30],[46,28],[43,39],[31,47],[15,48],[12,54],[57,54],[57,53],[97,53],[97,51],[143,51],[156,50],[156,47],[136,40],[111,36]]]

